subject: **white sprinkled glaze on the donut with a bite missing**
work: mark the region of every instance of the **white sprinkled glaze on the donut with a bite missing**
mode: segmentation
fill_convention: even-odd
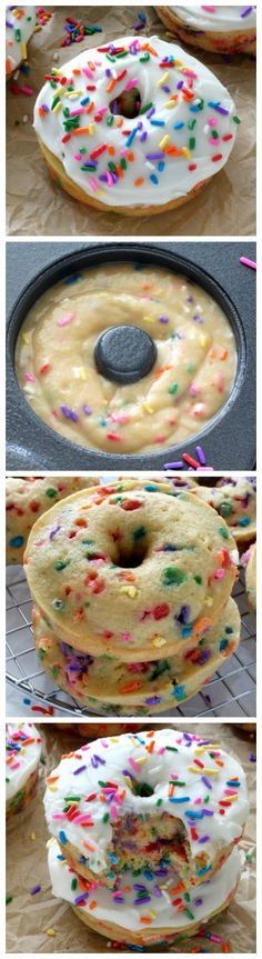
[[[64,846],[64,853],[67,855],[67,841],[69,841],[78,848],[80,855],[88,859],[89,868],[93,872],[99,875],[105,869],[105,852],[112,838],[114,813],[111,812],[111,821],[109,819],[108,822],[103,822],[104,805],[99,799],[101,792],[99,780],[101,779],[117,782],[120,790],[125,790],[123,800],[120,803],[114,801],[112,803],[117,809],[117,817],[123,817],[130,812],[133,815],[142,812],[155,815],[159,809],[155,803],[161,798],[161,812],[169,812],[183,822],[193,857],[203,850],[199,840],[206,833],[209,841],[204,843],[204,852],[210,860],[218,855],[220,849],[238,839],[242,833],[249,812],[244,771],[238,760],[218,746],[220,756],[216,758],[223,761],[223,767],[221,767],[215,759],[210,757],[210,747],[201,749],[202,740],[200,737],[187,739],[187,736],[188,733],[181,730],[158,730],[154,733],[154,750],[149,753],[145,746],[151,743],[152,738],[147,732],[138,733],[138,736],[128,733],[121,737],[95,740],[93,743],[82,746],[77,752],[63,757],[51,773],[51,781],[44,795],[44,809],[49,830],[54,838],[60,837],[60,841]],[[167,746],[179,751],[167,750]],[[98,761],[95,757],[100,757],[102,761]],[[142,762],[140,763],[141,758]],[[195,759],[203,762],[204,768],[200,768],[194,762]],[[137,767],[133,765],[135,762]],[[92,763],[97,763],[97,768]],[[193,763],[195,772],[191,771]],[[84,767],[83,770],[75,773],[75,770],[82,767]],[[127,776],[123,775],[123,770],[127,769],[130,769],[130,772],[138,780],[141,778],[141,781],[147,781],[153,787],[153,795],[147,798],[134,795],[130,789]],[[171,801],[169,798],[171,775],[179,777],[179,780],[185,783],[184,787],[177,787],[174,796],[180,800],[181,797],[190,797],[189,801]],[[211,788],[208,788],[206,782],[202,781],[202,776],[208,777]],[[58,777],[58,779],[52,781],[53,777]],[[240,787],[234,789],[238,792],[238,799],[232,801],[230,806],[223,807],[224,813],[220,815],[220,801],[228,799],[224,790],[230,788],[226,782],[231,781],[233,777],[238,777],[240,782]],[[90,853],[84,846],[87,829],[81,823],[78,825],[75,819],[54,818],[56,815],[59,813],[60,816],[63,812],[64,797],[75,795],[75,791],[78,796],[82,797],[78,805],[79,813],[90,815],[94,823],[92,828],[88,829],[88,839],[93,846],[93,851]],[[87,796],[93,792],[95,792],[95,798],[87,803]],[[206,802],[208,793],[210,799]],[[111,811],[112,805],[110,803],[107,810]],[[203,813],[202,818],[196,818],[196,815],[202,812],[202,808],[208,808],[213,815]],[[192,838],[190,829],[192,819],[187,815],[189,811],[195,816],[194,825],[198,827],[198,839]],[[61,830],[66,833],[66,841],[63,836],[61,840]]]

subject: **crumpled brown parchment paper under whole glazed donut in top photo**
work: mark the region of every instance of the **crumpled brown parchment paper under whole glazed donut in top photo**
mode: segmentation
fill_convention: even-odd
[[[255,61],[248,56],[222,58],[204,51],[195,56],[205,63],[232,94],[241,117],[236,142],[226,166],[212,178],[200,196],[165,213],[123,217],[99,212],[79,204],[51,181],[41,158],[32,129],[33,103],[43,86],[44,73],[77,57],[80,50],[108,40],[135,33],[138,11],[147,16],[140,37],[158,33],[172,41],[171,34],[153,7],[48,7],[51,20],[34,33],[28,44],[30,72],[19,83],[27,83],[32,97],[7,91],[7,232],[11,236],[252,236],[255,233]],[[102,27],[102,33],[85,37],[83,42],[61,48],[67,16]],[[192,47],[188,48],[194,53]],[[54,57],[58,56],[58,59]],[[23,118],[28,118],[23,122]]]

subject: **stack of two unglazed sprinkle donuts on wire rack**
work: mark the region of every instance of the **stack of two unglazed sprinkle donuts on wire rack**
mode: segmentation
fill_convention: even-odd
[[[170,483],[74,493],[37,521],[24,555],[43,667],[82,707],[180,705],[239,643],[235,561],[224,520]]]

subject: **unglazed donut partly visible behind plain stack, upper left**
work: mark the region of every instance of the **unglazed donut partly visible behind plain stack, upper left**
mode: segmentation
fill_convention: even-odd
[[[37,517],[53,502],[95,482],[94,477],[8,477],[6,481],[7,566],[22,563],[28,536]]]

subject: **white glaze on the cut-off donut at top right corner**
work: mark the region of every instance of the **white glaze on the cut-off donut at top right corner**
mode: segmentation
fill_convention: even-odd
[[[206,30],[214,33],[238,33],[245,30],[255,29],[256,24],[256,7],[251,7],[251,12],[245,17],[241,17],[245,7],[228,7],[228,4],[211,4],[211,7],[170,7],[180,20],[183,20],[188,27],[196,30]]]

